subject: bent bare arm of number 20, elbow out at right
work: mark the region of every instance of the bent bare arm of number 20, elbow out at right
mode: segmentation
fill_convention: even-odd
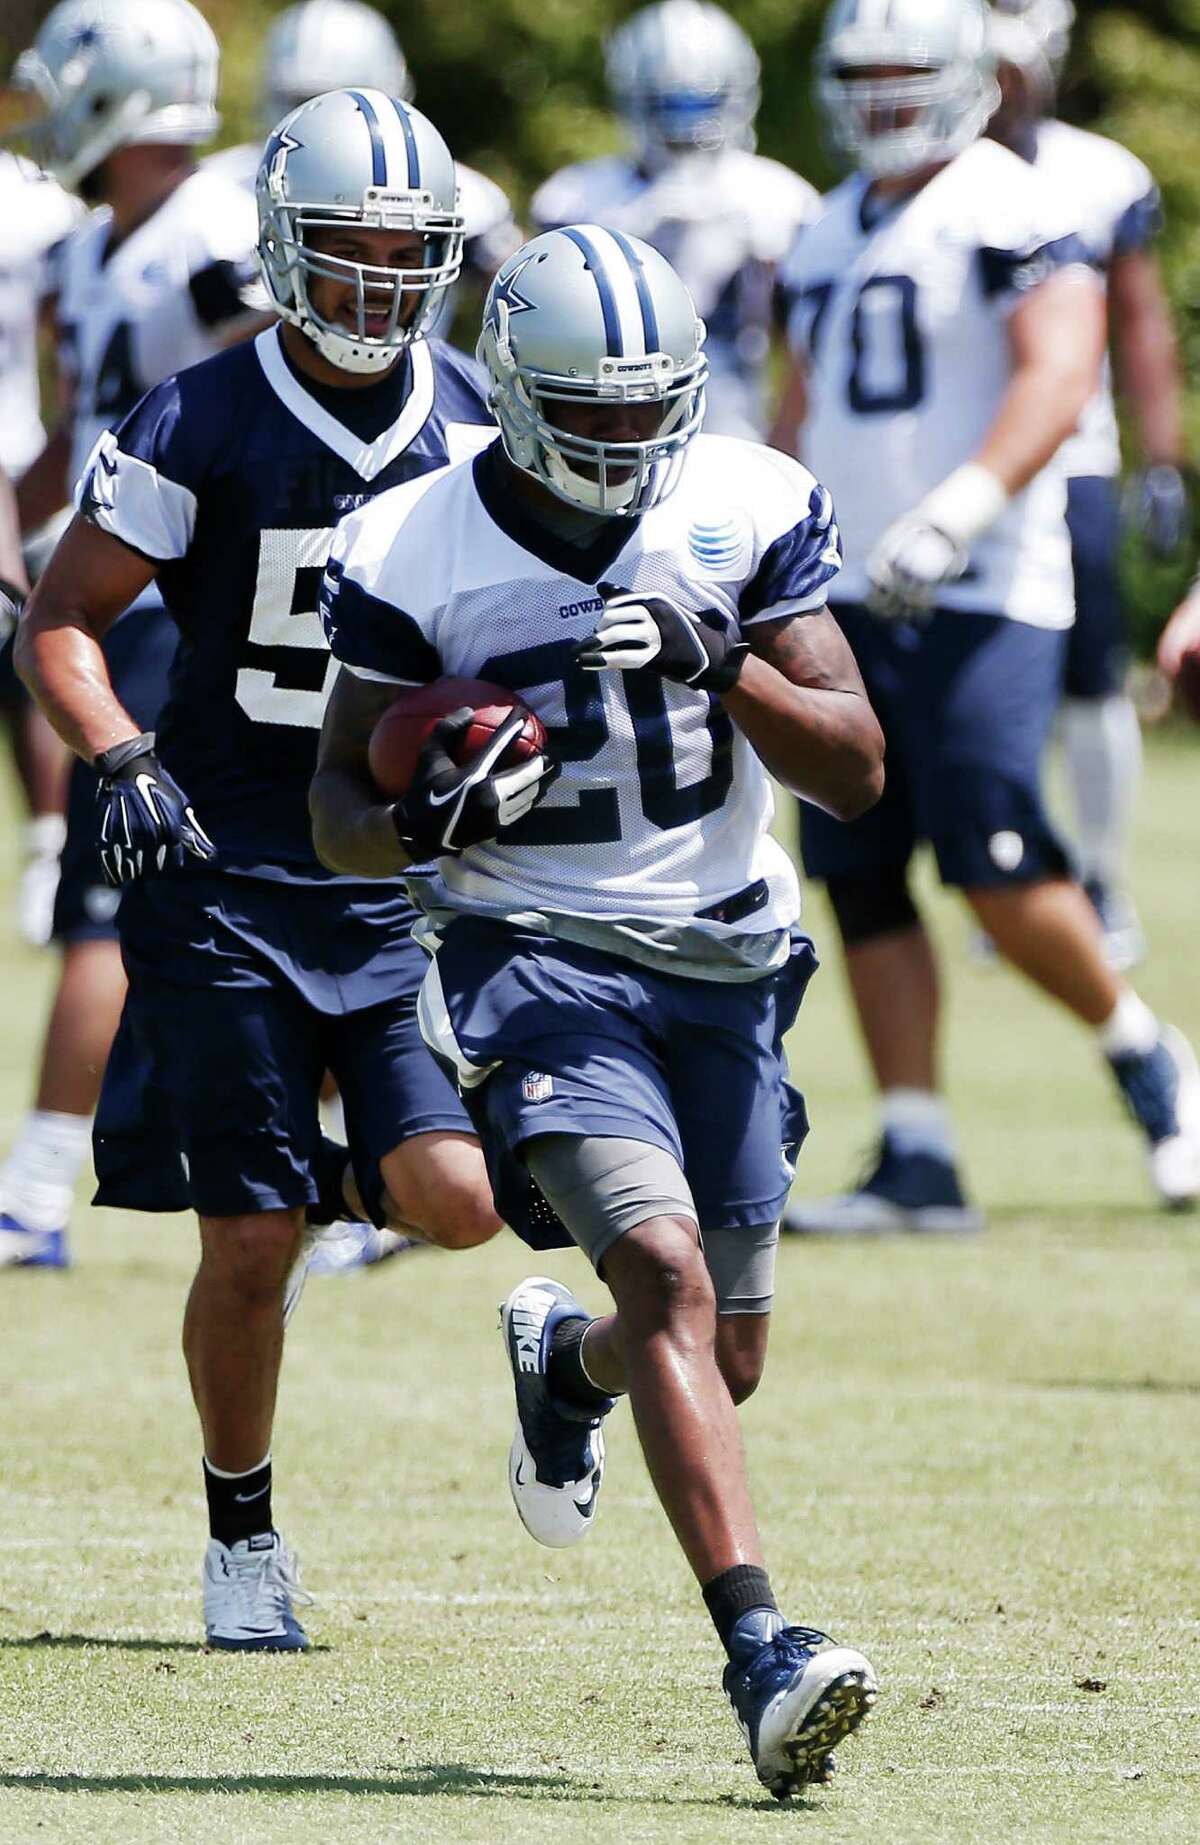
[[[882,793],[882,731],[827,609],[761,622],[724,705],[772,775],[838,819]]]

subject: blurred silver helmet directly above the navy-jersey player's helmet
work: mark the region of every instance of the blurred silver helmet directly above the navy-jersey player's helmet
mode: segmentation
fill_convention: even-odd
[[[266,127],[323,90],[364,85],[404,101],[414,94],[397,37],[373,6],[362,0],[301,0],[273,20],[262,52]]]

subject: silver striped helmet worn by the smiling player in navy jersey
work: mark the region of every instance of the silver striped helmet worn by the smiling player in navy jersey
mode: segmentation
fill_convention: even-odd
[[[458,280],[463,220],[450,149],[419,109],[382,90],[330,90],[284,116],[266,144],[255,196],[271,301],[342,371],[386,371],[426,332]],[[410,231],[425,240],[425,260],[390,269],[314,247],[314,231],[345,225]],[[354,328],[314,306],[314,279],[354,288]],[[414,295],[415,312],[406,314]]]

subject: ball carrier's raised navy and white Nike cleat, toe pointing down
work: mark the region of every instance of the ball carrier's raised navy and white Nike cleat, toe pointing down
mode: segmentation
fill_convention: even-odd
[[[591,1319],[569,1288],[545,1275],[519,1282],[500,1308],[500,1332],[517,1391],[517,1430],[508,1454],[508,1485],[517,1515],[539,1544],[565,1550],[593,1528],[604,1483],[600,1411],[550,1395],[546,1363],[554,1328]]]

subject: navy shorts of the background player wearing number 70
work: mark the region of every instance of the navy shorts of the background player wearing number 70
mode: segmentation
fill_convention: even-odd
[[[836,607],[886,738],[882,799],[855,821],[801,803],[810,878],[908,863],[923,839],[943,884],[986,889],[1063,876],[1041,795],[1062,692],[1065,633],[938,609],[881,622]]]

